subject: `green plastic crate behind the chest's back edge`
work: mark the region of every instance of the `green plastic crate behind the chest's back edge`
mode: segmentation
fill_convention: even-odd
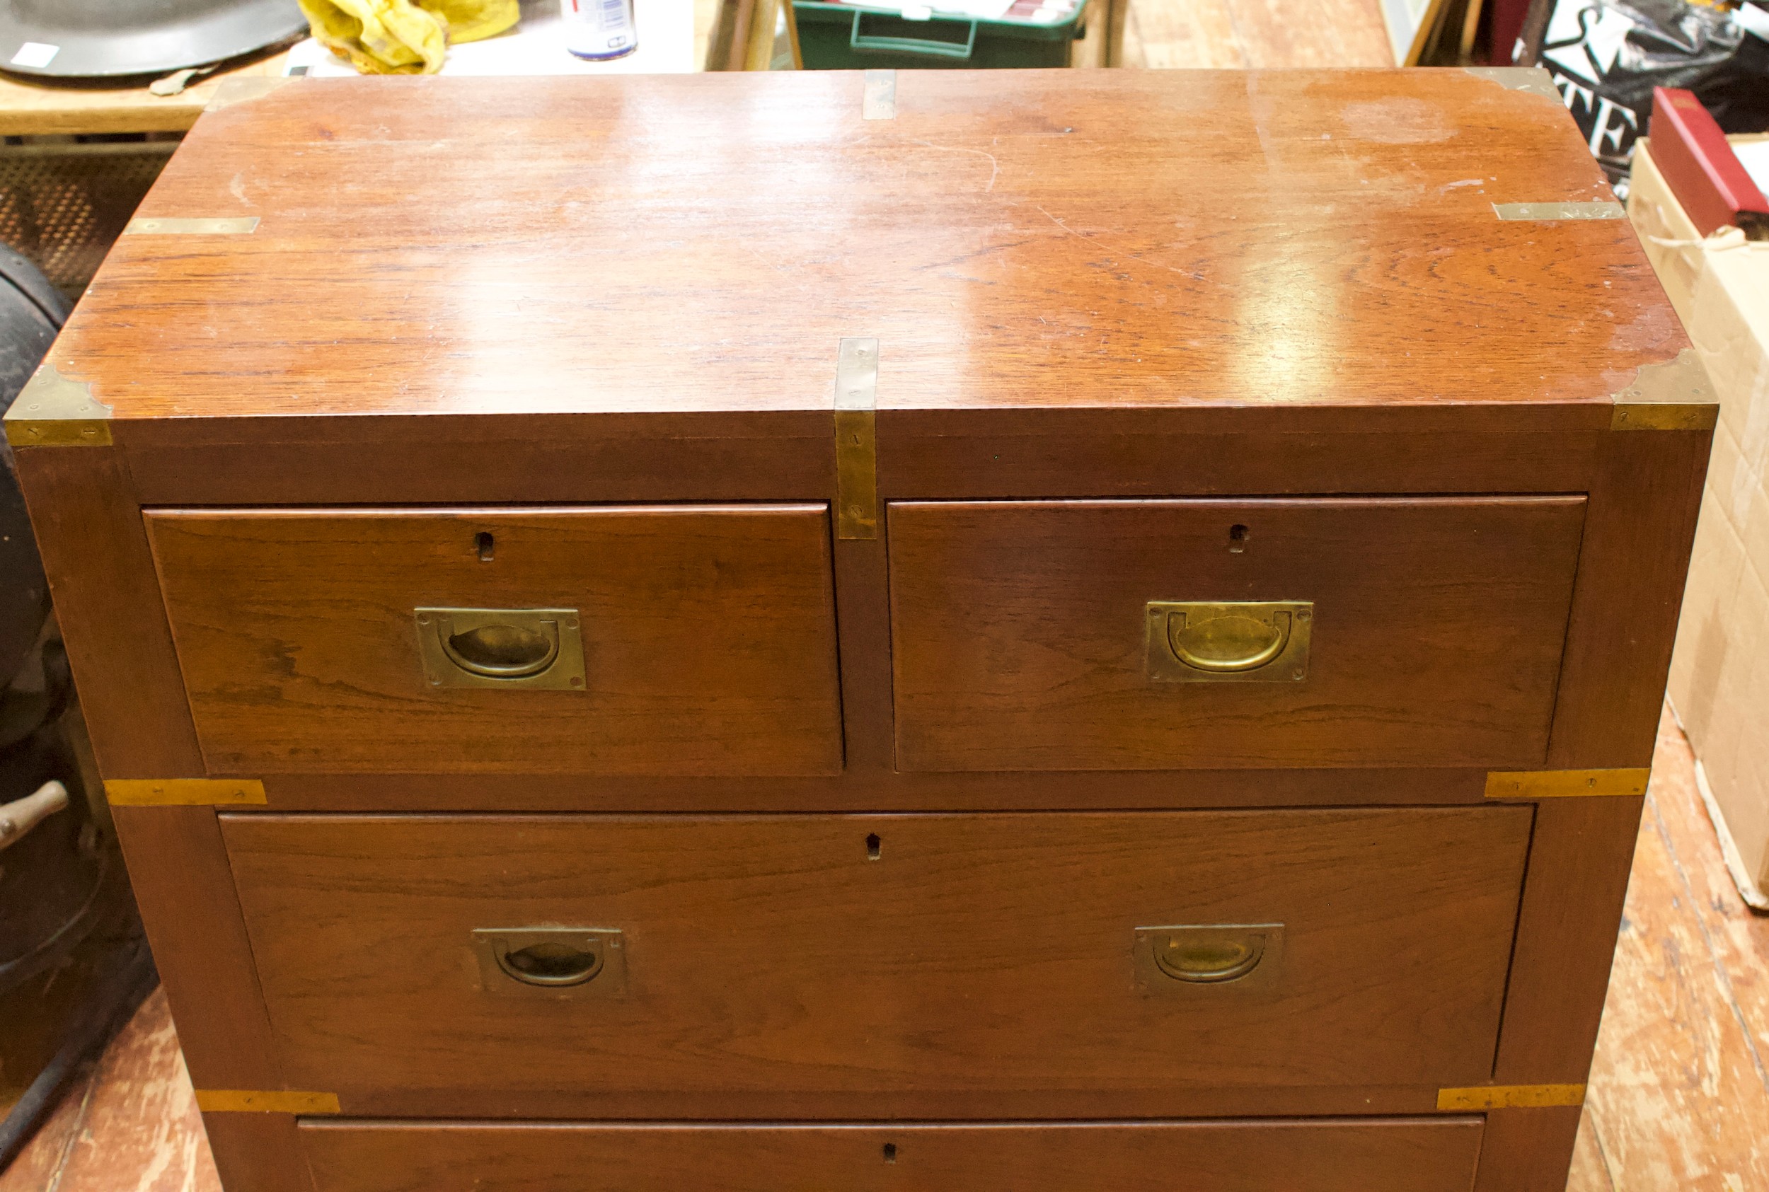
[[[1012,12],[999,21],[968,16],[906,19],[890,9],[793,0],[798,50],[807,71],[964,69],[1068,65],[1081,35],[1084,0],[1065,21],[1033,21]]]

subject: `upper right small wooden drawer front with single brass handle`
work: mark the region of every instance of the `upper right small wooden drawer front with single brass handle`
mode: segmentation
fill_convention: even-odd
[[[1583,497],[893,502],[899,769],[1532,768]]]

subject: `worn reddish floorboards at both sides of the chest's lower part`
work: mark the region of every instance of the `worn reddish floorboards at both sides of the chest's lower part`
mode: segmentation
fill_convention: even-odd
[[[1569,1192],[1769,1188],[1769,918],[1727,875],[1677,725],[1652,787]],[[0,1192],[219,1192],[156,992]]]

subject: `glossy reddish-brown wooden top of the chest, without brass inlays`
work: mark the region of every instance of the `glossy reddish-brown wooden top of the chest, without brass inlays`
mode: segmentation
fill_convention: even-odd
[[[117,419],[1608,403],[1688,345],[1567,115],[1467,71],[290,80],[51,363]],[[150,225],[152,226],[152,225]],[[161,225],[166,226],[166,225]]]

